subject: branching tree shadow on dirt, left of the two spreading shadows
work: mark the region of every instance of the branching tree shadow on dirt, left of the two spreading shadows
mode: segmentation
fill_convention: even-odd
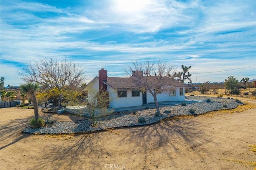
[[[100,163],[110,153],[103,149],[102,142],[97,133],[78,136],[66,136],[50,139],[54,143],[60,140],[61,143],[45,146],[43,154],[38,159],[38,164],[32,169],[97,169],[103,167]]]

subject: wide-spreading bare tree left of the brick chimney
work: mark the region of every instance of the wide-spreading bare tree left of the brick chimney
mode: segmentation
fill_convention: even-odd
[[[25,82],[36,82],[55,92],[58,96],[59,108],[62,108],[64,92],[77,88],[85,80],[84,70],[80,68],[80,65],[67,61],[66,58],[58,61],[57,58],[50,57],[39,62],[30,62],[18,74]]]

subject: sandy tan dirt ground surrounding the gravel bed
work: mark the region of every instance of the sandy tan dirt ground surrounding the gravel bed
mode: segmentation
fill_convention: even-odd
[[[256,100],[247,100],[253,104]],[[0,109],[1,170],[255,169],[256,108],[86,135],[22,134],[33,109]],[[80,117],[40,113],[71,121]]]

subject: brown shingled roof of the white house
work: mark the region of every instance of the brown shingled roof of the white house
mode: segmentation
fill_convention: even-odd
[[[159,80],[159,76],[149,76],[148,80],[151,82],[155,82]],[[134,76],[130,77],[107,77],[107,81],[104,82],[108,86],[111,86],[114,89],[137,89],[141,88],[141,84],[138,83],[138,78]],[[169,85],[175,87],[190,87],[186,84],[179,82],[178,80],[169,78],[169,77],[162,77],[160,80],[161,85]]]

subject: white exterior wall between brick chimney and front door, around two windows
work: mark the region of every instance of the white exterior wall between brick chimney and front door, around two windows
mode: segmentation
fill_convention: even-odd
[[[127,97],[118,98],[117,90],[108,86],[108,92],[110,93],[110,107],[131,107],[131,106],[142,106],[142,92],[140,96],[132,97],[132,90],[127,90]],[[112,94],[112,95],[111,95]]]

